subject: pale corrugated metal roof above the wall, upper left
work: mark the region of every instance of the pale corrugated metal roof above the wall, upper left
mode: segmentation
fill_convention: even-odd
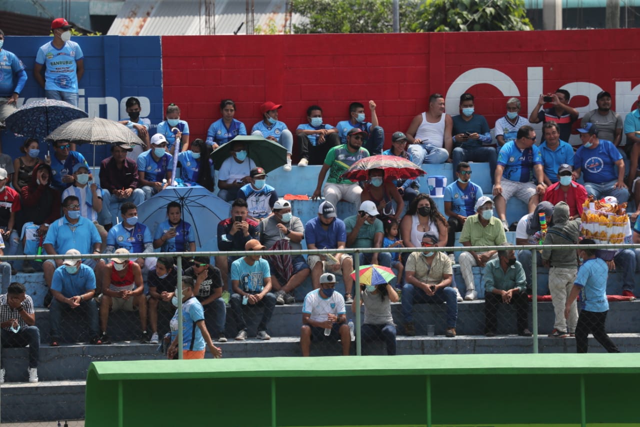
[[[216,34],[246,34],[246,1],[216,0]],[[278,33],[285,31],[286,0],[253,0],[253,22],[264,30],[275,25]],[[301,20],[293,17],[294,24]],[[108,35],[204,35],[205,4],[200,0],[127,0],[116,17]]]

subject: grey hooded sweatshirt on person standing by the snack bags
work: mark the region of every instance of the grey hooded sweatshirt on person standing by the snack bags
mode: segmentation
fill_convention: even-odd
[[[580,220],[569,221],[569,205],[559,202],[554,207],[554,225],[547,230],[545,245],[577,244],[580,235]],[[543,249],[542,259],[549,260],[552,267],[577,269],[575,249]]]

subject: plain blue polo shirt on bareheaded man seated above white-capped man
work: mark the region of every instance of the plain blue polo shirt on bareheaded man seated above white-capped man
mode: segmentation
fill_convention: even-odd
[[[79,217],[76,224],[71,224],[67,217],[52,222],[42,244],[51,244],[58,254],[65,254],[69,249],[77,249],[80,253],[93,253],[93,244],[102,242],[93,222]]]

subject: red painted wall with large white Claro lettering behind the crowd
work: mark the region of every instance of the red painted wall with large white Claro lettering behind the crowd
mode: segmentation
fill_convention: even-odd
[[[558,87],[572,92],[571,105],[581,115],[595,108],[601,89],[609,90],[614,110],[624,115],[640,94],[638,35],[639,29],[597,29],[167,36],[162,38],[164,103],[180,106],[193,140],[220,118],[223,98],[236,101],[236,118],[248,130],[267,100],[284,105],[280,120],[294,130],[306,121],[309,105],[322,106],[324,122],[335,125],[348,118],[349,103],[374,99],[386,147],[392,132],[405,131],[424,111],[432,92],[447,97],[452,115],[459,113],[460,94],[472,92],[476,113],[485,115],[491,128],[508,97],[519,95],[520,115],[528,117],[540,91]],[[460,83],[461,74],[482,68],[488,70],[476,70]]]

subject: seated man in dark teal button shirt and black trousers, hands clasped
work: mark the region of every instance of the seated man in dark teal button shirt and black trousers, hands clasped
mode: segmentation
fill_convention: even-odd
[[[498,257],[488,260],[484,267],[484,335],[495,337],[497,311],[500,303],[516,306],[518,335],[531,337],[526,281],[522,265],[516,261],[515,251],[505,248]]]

